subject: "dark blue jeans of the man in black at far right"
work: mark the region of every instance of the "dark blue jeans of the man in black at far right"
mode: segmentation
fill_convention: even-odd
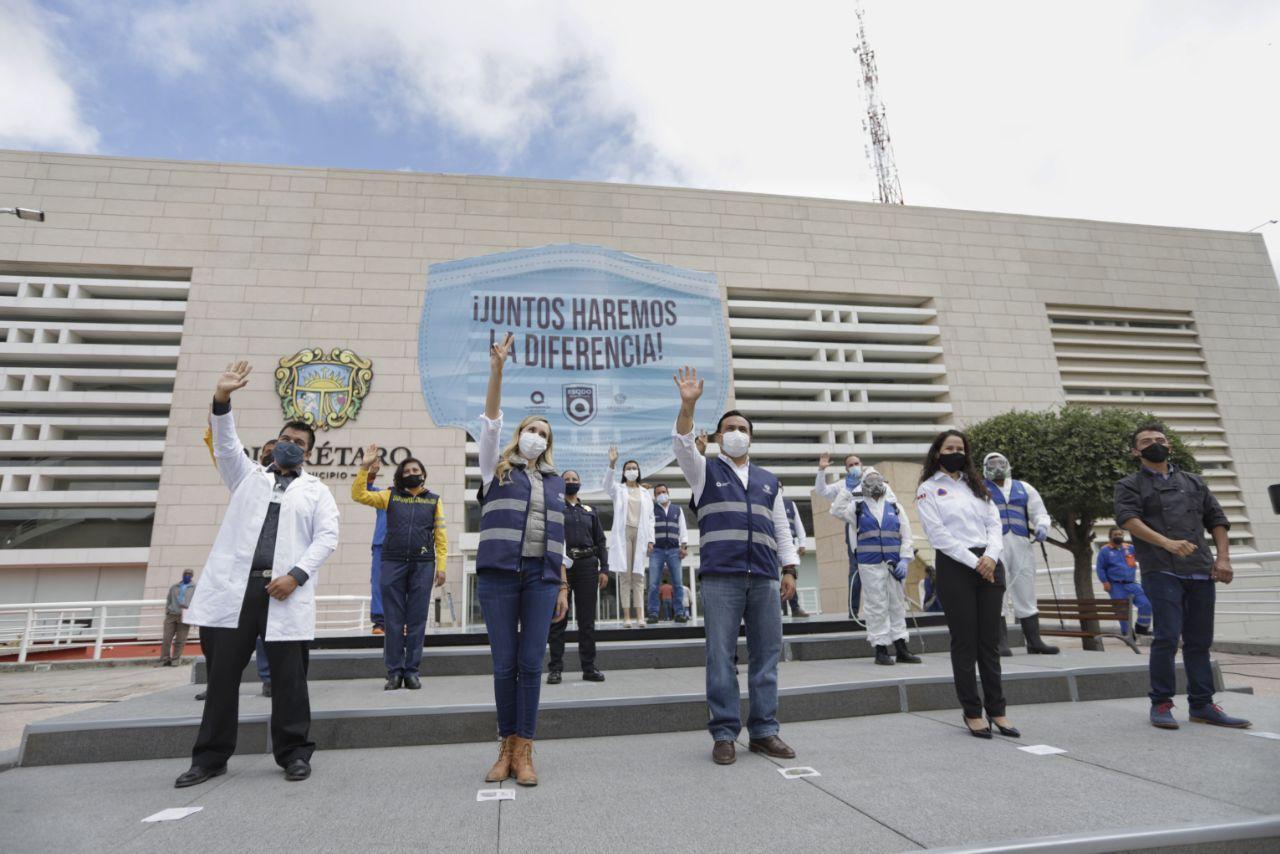
[[[1172,702],[1178,693],[1174,656],[1183,641],[1187,667],[1187,700],[1192,708],[1213,702],[1213,667],[1208,648],[1213,644],[1212,581],[1193,581],[1167,572],[1143,572],[1142,589],[1151,599],[1156,625],[1151,644],[1151,702]]]

